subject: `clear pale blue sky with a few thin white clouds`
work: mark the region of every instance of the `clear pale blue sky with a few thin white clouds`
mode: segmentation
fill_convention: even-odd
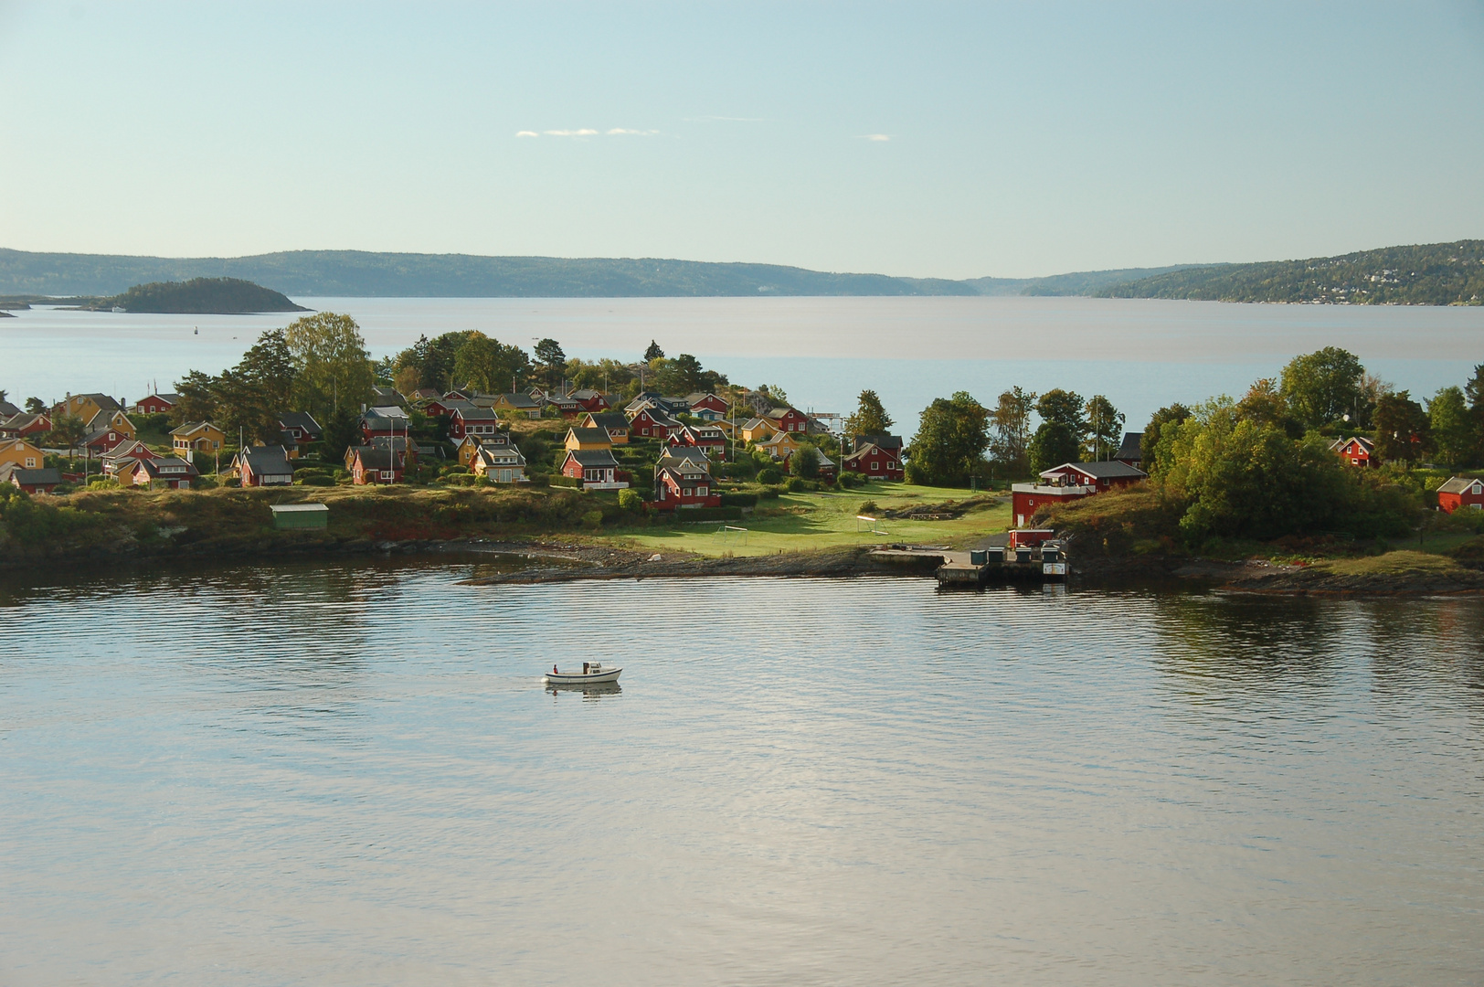
[[[907,276],[1484,236],[1484,3],[7,3],[0,246]]]

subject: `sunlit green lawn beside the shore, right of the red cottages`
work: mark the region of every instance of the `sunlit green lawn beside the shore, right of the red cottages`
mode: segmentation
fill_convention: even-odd
[[[859,490],[840,494],[794,493],[778,500],[758,503],[758,514],[741,521],[729,521],[732,527],[746,531],[723,531],[720,521],[677,524],[671,528],[614,528],[610,533],[623,537],[638,548],[653,548],[660,552],[697,552],[700,555],[772,555],[775,552],[803,552],[838,545],[873,545],[886,542],[916,542],[930,545],[953,545],[962,548],[993,531],[1003,531],[1011,522],[1009,502],[971,511],[953,521],[889,521],[880,519],[871,525],[858,521],[861,505],[874,500],[880,511],[914,503],[942,503],[944,500],[966,500],[968,490],[941,487],[914,487],[911,484],[871,482]],[[773,511],[779,514],[767,515]],[[880,518],[880,511],[876,514]],[[684,518],[684,512],[680,512]],[[873,533],[884,531],[884,534]]]

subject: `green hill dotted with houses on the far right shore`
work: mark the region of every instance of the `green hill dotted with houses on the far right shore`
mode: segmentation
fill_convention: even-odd
[[[1484,240],[1388,246],[1343,257],[1186,267],[1094,294],[1104,298],[1293,301],[1324,304],[1480,304]]]

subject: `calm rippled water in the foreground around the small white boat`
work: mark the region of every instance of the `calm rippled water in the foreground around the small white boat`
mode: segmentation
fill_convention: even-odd
[[[0,981],[1484,983],[1478,601],[467,571],[9,577]]]

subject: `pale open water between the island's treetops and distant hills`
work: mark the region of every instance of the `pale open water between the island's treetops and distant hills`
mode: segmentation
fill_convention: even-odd
[[[933,398],[1005,387],[1103,393],[1129,426],[1172,401],[1242,393],[1296,353],[1343,346],[1432,395],[1484,362],[1484,309],[1248,306],[1131,298],[300,298],[347,312],[371,349],[484,329],[530,347],[555,337],[582,358],[637,359],[657,340],[746,384],[782,384],[816,411],[880,392],[910,435]],[[0,319],[0,389],[61,399],[139,398],[188,370],[218,373],[292,316],[169,316],[33,309]],[[194,329],[199,328],[200,334]],[[79,361],[79,355],[86,359]]]

